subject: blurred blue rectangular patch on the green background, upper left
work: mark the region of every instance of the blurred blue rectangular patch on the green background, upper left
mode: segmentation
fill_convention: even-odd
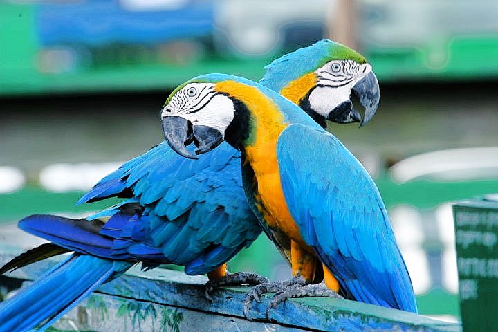
[[[38,69],[54,73],[47,67],[82,71],[195,62],[202,56],[204,44],[210,44],[212,9],[212,1],[195,0],[39,5],[35,12],[39,58],[48,59],[39,61]],[[72,54],[73,66],[59,61],[68,58],[65,54]]]

